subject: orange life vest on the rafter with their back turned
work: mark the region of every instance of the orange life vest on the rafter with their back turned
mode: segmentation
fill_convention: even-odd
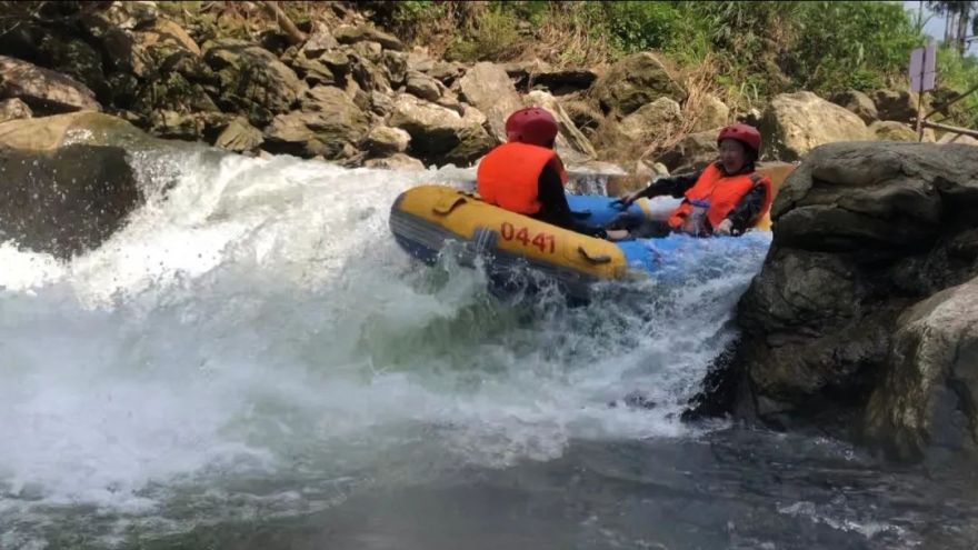
[[[552,149],[519,143],[503,143],[489,151],[479,163],[476,183],[479,196],[490,204],[510,212],[532,216],[540,211],[540,173],[548,164],[557,169],[560,182],[567,183],[563,163]]]

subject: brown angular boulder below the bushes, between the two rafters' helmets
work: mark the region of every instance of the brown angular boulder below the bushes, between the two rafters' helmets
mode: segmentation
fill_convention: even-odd
[[[687,92],[651,52],[628,56],[615,63],[591,87],[605,113],[626,116],[641,106],[667,97],[686,100]]]

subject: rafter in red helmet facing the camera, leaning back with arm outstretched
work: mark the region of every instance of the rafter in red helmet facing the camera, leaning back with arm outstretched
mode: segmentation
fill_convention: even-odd
[[[665,237],[670,232],[706,236],[739,236],[751,228],[771,206],[771,182],[755,170],[760,133],[748,124],[732,124],[717,137],[720,158],[706,169],[661,178],[648,188],[619,199],[628,207],[641,197],[665,194],[682,198],[667,219],[639,222],[621,217],[612,226],[626,229],[631,237]],[[609,230],[621,238],[621,229]]]

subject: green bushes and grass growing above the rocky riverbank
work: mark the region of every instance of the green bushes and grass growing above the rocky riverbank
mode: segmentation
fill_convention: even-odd
[[[709,84],[740,104],[799,89],[905,88],[909,52],[925,42],[901,2],[403,1],[385,11],[378,23],[462,61],[599,64],[658,50],[686,72],[708,67]],[[962,92],[978,83],[976,62],[950,46],[940,80]],[[955,120],[976,126],[965,107]]]

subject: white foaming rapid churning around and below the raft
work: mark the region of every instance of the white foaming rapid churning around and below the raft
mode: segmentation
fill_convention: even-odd
[[[0,244],[2,548],[78,514],[111,541],[553,460],[573,439],[695,437],[678,413],[769,244],[690,244],[686,281],[633,283],[628,303],[512,306],[390,236],[398,193],[462,171],[193,148],[132,163],[147,203],[99,249]],[[656,407],[625,407],[637,391]]]

